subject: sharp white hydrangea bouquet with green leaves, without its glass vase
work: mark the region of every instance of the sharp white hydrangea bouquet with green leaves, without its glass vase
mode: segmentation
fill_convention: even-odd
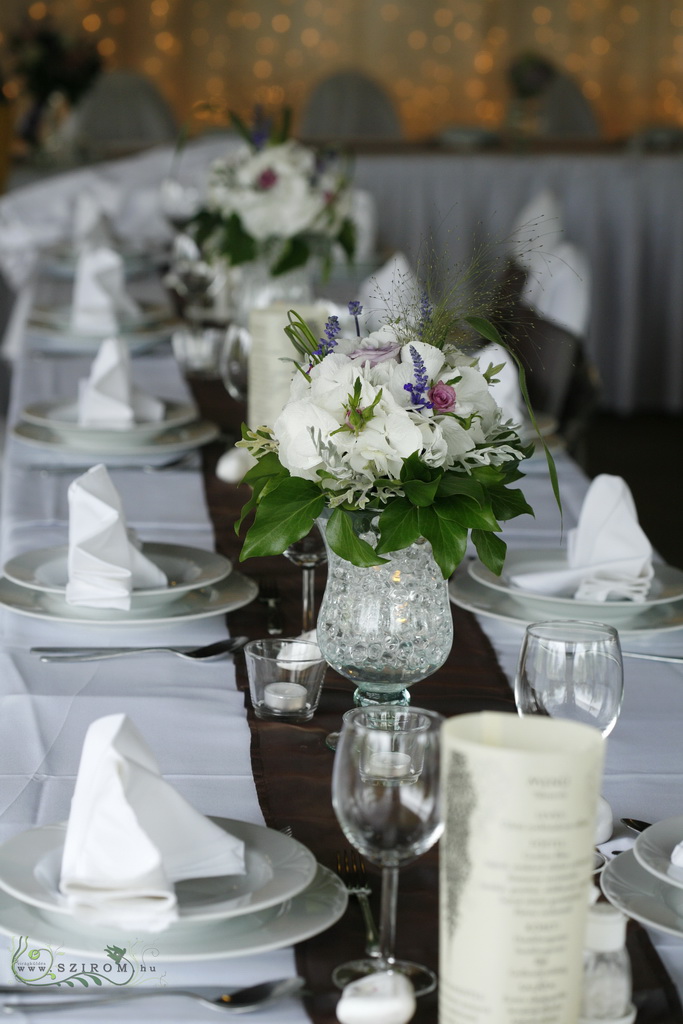
[[[355,565],[380,564],[383,555],[426,538],[447,578],[471,537],[481,561],[500,573],[501,522],[532,514],[510,484],[533,451],[515,424],[503,421],[490,393],[503,365],[482,367],[452,343],[453,324],[425,300],[418,316],[366,338],[359,304],[350,303],[349,312],[355,337],[342,337],[332,316],[322,339],[290,312],[286,330],[299,360],[289,401],[271,429],[243,427],[238,442],[256,459],[245,477],[252,497],[236,526],[255,512],[241,558],[281,554],[328,509],[328,543]],[[488,321],[465,319],[502,344]],[[527,399],[521,368],[520,383]],[[530,408],[529,416],[535,422]],[[359,510],[378,513],[376,547],[353,529],[350,513]]]

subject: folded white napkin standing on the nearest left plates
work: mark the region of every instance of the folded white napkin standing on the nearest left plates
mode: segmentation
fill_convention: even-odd
[[[162,777],[125,715],[90,725],[59,880],[74,913],[92,924],[159,932],[178,916],[174,882],[244,873],[244,843]]]

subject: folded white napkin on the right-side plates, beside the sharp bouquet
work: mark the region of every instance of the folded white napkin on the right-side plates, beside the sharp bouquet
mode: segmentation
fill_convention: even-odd
[[[512,583],[538,594],[573,592],[578,600],[644,601],[653,577],[652,547],[638,523],[633,495],[621,476],[596,476],[579,523],[567,537],[567,567],[517,572]]]

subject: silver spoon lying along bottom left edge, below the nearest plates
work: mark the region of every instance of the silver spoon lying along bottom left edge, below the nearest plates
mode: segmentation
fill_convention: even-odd
[[[219,1012],[227,1011],[234,1014],[246,1014],[251,1010],[260,1010],[261,1007],[273,1002],[275,999],[284,999],[288,995],[295,995],[303,987],[303,978],[281,978],[279,981],[264,981],[258,985],[250,985],[248,988],[239,988],[234,992],[221,992],[219,988],[211,989],[211,996],[201,995],[184,988],[119,988],[116,991],[109,989],[105,994],[83,993],[77,996],[50,996],[41,997],[36,989],[24,989],[17,991],[16,987],[0,988],[0,1005],[4,1014],[14,1012],[23,1014],[26,1011],[36,1010],[40,1013],[53,1010],[73,1010],[79,1006],[89,1006],[93,1004],[111,1004],[129,1001],[131,999],[159,998],[160,996],[176,995],[195,999],[211,1010]],[[218,993],[213,995],[213,992]]]

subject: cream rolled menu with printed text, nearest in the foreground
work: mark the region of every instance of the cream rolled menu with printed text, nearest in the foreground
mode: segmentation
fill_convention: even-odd
[[[604,740],[482,712],[442,731],[439,1024],[575,1024]]]

